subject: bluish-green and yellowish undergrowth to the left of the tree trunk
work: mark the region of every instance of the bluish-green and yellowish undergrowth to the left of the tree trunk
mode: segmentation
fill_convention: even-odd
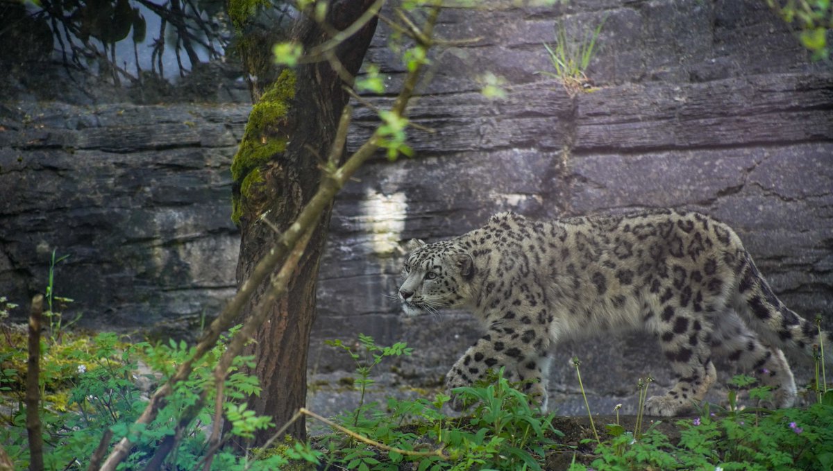
[[[41,411],[46,469],[82,469],[83,461],[92,456],[104,434],[112,434],[113,440],[132,436],[137,453],[128,459],[127,467],[143,467],[152,459],[159,444],[175,433],[182,410],[194,404],[202,387],[213,381],[212,369],[225,350],[228,338],[224,336],[223,342],[203,357],[195,374],[177,384],[157,419],[147,427],[133,424],[147,404],[145,393],[137,386],[140,364],[147,370],[144,375],[149,377],[151,384],[161,384],[175,371],[176,364],[192,355],[192,347],[173,340],[157,345],[147,342],[128,344],[112,333],[89,338],[72,331],[63,333],[60,344],[47,340],[42,357],[42,377],[48,378],[42,384],[46,407]],[[24,370],[22,364],[9,361],[19,355],[17,351],[9,350],[10,346],[0,351],[3,363],[0,392],[6,406],[17,402],[13,401],[12,393],[20,390],[19,381]],[[234,360],[232,374],[228,375],[224,388],[224,410],[232,424],[231,433],[246,438],[254,430],[272,424],[270,418],[257,416],[243,403],[244,397],[260,394],[261,390],[256,378],[237,371],[243,364],[251,365],[252,357],[239,356]],[[213,400],[213,393],[209,397]],[[28,465],[28,447],[22,405],[11,410],[12,413],[4,417],[5,426],[0,428],[0,444],[17,468],[23,469]],[[206,407],[192,424],[188,424],[175,453],[167,457],[169,469],[193,469],[201,461],[207,453],[204,430],[213,420],[212,408]],[[216,455],[212,469],[276,469],[291,459],[315,457],[312,452],[302,453],[307,448],[305,444],[284,446],[281,454],[258,459],[248,454],[221,451]]]

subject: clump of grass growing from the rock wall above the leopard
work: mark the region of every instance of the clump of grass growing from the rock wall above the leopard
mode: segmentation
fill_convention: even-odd
[[[605,21],[606,17],[602,18],[596,29],[585,32],[582,37],[568,36],[564,23],[558,22],[555,44],[544,43],[555,72],[540,73],[558,79],[571,95],[590,89],[590,80],[585,71],[596,51],[596,41]]]

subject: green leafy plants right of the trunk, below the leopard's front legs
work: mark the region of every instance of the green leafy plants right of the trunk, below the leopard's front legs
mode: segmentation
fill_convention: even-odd
[[[355,383],[362,391],[382,359],[411,351],[405,344],[377,346],[367,335],[358,342],[364,355],[339,340],[328,343],[357,362]],[[484,383],[454,389],[465,404],[475,404],[471,416],[456,419],[442,412],[451,400],[446,394],[432,401],[388,398],[384,411],[362,399],[354,414],[342,416],[342,425],[334,424],[342,431],[350,427],[347,439],[332,434],[322,440],[327,464],[367,470],[399,469],[405,462],[423,470],[541,469],[546,450],[555,446],[553,437],[561,433],[551,425],[555,414],[542,417],[516,386],[501,370]]]

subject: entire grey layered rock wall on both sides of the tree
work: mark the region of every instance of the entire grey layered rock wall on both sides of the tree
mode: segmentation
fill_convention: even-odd
[[[438,240],[496,211],[556,217],[671,206],[734,226],[776,293],[833,327],[833,73],[811,65],[763,2],[571,2],[518,8],[489,2],[448,10],[441,35],[480,37],[435,57],[434,81],[411,119],[412,159],[380,158],[344,188],[322,261],[310,368],[349,374],[323,340],[405,340],[412,357],[387,383],[428,387],[478,331],[465,313],[404,318],[397,287],[402,240]],[[556,22],[571,35],[604,19],[587,75],[571,97],[536,72]],[[389,90],[403,67],[377,34],[368,54]],[[481,73],[507,82],[482,97]],[[384,102],[384,100],[380,100]],[[229,221],[231,163],[249,107],[129,104],[0,107],[0,294],[25,305],[45,284],[48,253],[72,256],[57,293],[87,325],[162,333],[196,329],[234,286],[237,232]],[[350,145],[372,112],[357,108]],[[187,322],[182,322],[185,319]],[[632,406],[636,378],[667,384],[645,335],[560,345],[552,397],[581,409],[582,360],[594,409]],[[319,384],[317,390],[326,390]],[[338,394],[318,394],[324,408]]]

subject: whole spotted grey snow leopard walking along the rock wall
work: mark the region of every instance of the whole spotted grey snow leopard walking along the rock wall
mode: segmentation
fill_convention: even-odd
[[[412,240],[399,298],[407,314],[471,310],[486,327],[446,375],[451,389],[489,369],[526,381],[546,409],[550,347],[585,333],[639,328],[677,377],[646,413],[673,416],[716,379],[712,356],[755,371],[789,407],[796,384],[781,348],[811,353],[816,325],[786,308],[729,226],[655,211],[531,221],[512,213],[451,240]],[[825,335],[826,345],[831,336]]]

